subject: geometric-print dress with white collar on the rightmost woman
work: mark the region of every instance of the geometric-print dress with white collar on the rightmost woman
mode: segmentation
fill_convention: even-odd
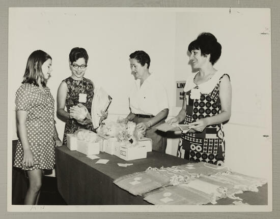
[[[215,77],[213,76],[203,86],[194,84],[195,76],[192,80],[187,80],[192,85],[189,87],[185,86],[184,89],[184,91],[186,90],[186,117],[184,124],[189,124],[201,118],[215,116],[221,112],[219,84],[221,78],[225,75],[227,74],[221,75],[216,72]],[[189,89],[190,87],[192,88]],[[197,92],[198,95],[193,97],[192,92]],[[202,132],[182,134],[179,141],[177,157],[192,162],[207,162],[220,166],[225,160],[224,137],[222,123],[207,126]]]

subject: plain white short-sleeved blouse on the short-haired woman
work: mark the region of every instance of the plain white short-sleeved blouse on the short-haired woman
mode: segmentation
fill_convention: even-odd
[[[129,94],[129,106],[134,114],[156,115],[169,108],[167,93],[154,74],[151,74],[140,87],[135,80]]]

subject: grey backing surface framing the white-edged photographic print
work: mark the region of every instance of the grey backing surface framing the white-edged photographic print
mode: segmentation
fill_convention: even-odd
[[[280,82],[279,77],[277,77],[277,72],[279,72],[279,67],[277,66],[277,60],[279,60],[280,51],[277,49],[279,47],[276,44],[276,38],[279,37],[277,34],[279,33],[279,2],[278,1],[197,1],[196,3],[191,2],[188,3],[183,1],[60,1],[60,4],[50,4],[48,1],[25,1],[21,2],[21,5],[18,5],[18,1],[2,1],[1,2],[1,23],[2,23],[2,30],[3,32],[0,33],[1,39],[3,39],[1,44],[1,73],[2,73],[2,96],[0,98],[2,103],[2,113],[1,119],[4,123],[2,126],[2,171],[1,171],[1,195],[2,195],[2,202],[1,202],[1,213],[4,213],[4,217],[2,218],[17,218],[17,216],[22,218],[29,217],[29,213],[19,213],[19,212],[7,212],[7,86],[8,86],[8,8],[9,7],[204,7],[204,8],[271,8],[271,49],[272,49],[272,127],[273,127],[273,210],[272,212],[234,212],[234,213],[226,213],[226,212],[211,212],[209,213],[191,213],[191,212],[182,212],[182,213],[160,213],[160,212],[147,212],[147,213],[135,213],[135,212],[125,212],[125,213],[100,213],[100,212],[92,212],[92,213],[39,213],[33,212],[32,217],[40,215],[40,218],[49,218],[52,216],[53,218],[59,218],[62,214],[68,218],[76,218],[77,216],[82,218],[86,218],[87,216],[90,217],[102,217],[102,218],[112,218],[113,216],[120,217],[120,218],[142,218],[143,216],[149,218],[158,218],[159,216],[162,218],[167,217],[175,217],[180,218],[181,216],[184,217],[186,215],[191,216],[193,218],[216,218],[227,216],[229,218],[276,218],[278,213],[278,195],[279,189],[277,189],[277,181],[276,178],[279,178],[279,173],[275,170],[279,167],[278,157],[279,151],[275,150],[275,146],[279,142],[279,126],[277,123],[278,117],[275,115],[279,109],[277,104],[279,101],[279,86],[277,84]],[[274,112],[274,113],[273,113]],[[26,214],[26,215],[25,215]]]

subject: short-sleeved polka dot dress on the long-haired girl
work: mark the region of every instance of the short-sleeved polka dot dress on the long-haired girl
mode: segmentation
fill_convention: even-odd
[[[16,91],[16,110],[27,112],[26,130],[35,165],[22,167],[23,148],[18,140],[14,166],[23,170],[53,169],[54,167],[54,99],[48,87],[24,83]]]

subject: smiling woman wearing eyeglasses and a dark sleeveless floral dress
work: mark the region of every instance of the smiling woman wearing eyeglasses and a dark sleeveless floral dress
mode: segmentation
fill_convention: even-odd
[[[80,111],[73,107],[78,104],[85,106],[91,114],[91,105],[94,96],[94,84],[90,79],[83,77],[87,70],[89,56],[84,48],[75,47],[69,54],[71,76],[64,79],[58,89],[57,114],[66,119],[63,135],[63,144],[67,143],[67,134],[73,134],[78,129],[95,131],[93,124],[80,124]],[[66,110],[65,111],[65,106]],[[105,118],[107,115],[103,115]]]

